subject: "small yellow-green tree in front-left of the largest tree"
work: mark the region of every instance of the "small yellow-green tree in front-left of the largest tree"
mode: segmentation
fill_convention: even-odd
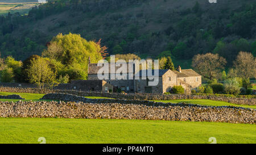
[[[40,89],[44,89],[45,86],[52,88],[57,83],[56,72],[50,68],[46,58],[33,59],[27,73],[30,82],[36,83]]]

